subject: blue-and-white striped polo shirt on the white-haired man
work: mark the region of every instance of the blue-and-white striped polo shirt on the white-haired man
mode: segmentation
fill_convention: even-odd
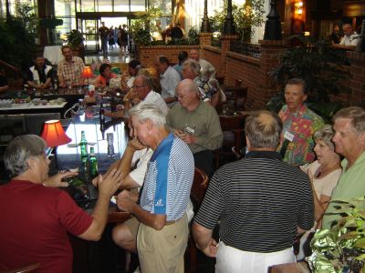
[[[154,151],[148,164],[140,205],[167,221],[183,217],[193,184],[194,162],[190,148],[170,134]]]

